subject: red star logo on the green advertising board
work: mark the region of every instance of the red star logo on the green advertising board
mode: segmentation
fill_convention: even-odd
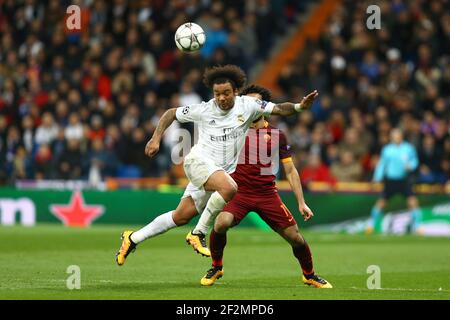
[[[54,204],[50,211],[68,227],[87,227],[105,211],[104,206],[86,205],[80,191],[72,193],[67,205]]]

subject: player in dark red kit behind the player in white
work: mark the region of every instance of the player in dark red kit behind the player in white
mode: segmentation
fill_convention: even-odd
[[[252,95],[270,101],[270,92],[260,86],[246,87],[242,95]],[[290,146],[282,131],[272,127],[261,117],[255,120],[247,134],[236,171],[232,174],[238,184],[238,192],[216,218],[210,235],[212,268],[201,279],[204,286],[213,285],[224,274],[222,257],[227,231],[239,224],[251,211],[259,216],[291,246],[302,269],[302,281],[317,288],[332,288],[325,279],[314,273],[311,251],[300,234],[295,218],[282,202],[275,185],[278,161],[283,164],[286,177],[297,198],[298,209],[305,221],[313,217],[306,205],[297,169],[292,162]]]

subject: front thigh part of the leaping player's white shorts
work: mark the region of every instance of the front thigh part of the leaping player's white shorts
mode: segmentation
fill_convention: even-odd
[[[223,170],[212,160],[201,155],[196,146],[184,158],[183,167],[189,181],[199,189],[203,188],[203,185],[214,172]]]

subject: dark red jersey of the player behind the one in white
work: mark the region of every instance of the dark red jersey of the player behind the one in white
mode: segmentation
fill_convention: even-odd
[[[276,174],[282,162],[291,161],[292,152],[284,133],[267,122],[263,129],[250,129],[231,175],[238,192],[255,195],[277,192]]]

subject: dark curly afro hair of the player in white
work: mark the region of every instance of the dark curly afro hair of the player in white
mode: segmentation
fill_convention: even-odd
[[[233,89],[241,89],[247,82],[245,72],[236,65],[227,64],[208,68],[203,75],[203,83],[212,89],[215,84],[229,82]]]

